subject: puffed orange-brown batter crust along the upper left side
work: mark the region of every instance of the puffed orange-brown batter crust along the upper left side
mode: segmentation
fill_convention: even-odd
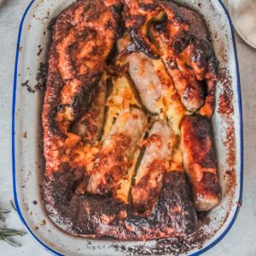
[[[55,20],[42,114],[46,175],[82,147],[69,128],[90,107],[119,32],[119,15],[105,3],[78,1]]]

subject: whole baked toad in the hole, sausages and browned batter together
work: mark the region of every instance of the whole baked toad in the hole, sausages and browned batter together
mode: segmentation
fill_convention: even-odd
[[[214,109],[216,59],[195,24],[205,29],[195,12],[157,0],[79,0],[56,18],[42,114],[44,201],[62,230],[186,236],[195,207],[217,205],[210,123],[186,116]]]

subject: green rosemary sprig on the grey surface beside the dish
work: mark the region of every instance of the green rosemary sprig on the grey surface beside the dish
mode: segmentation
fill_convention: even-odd
[[[14,207],[13,204],[12,204],[12,207]],[[26,232],[8,229],[5,227],[6,217],[4,216],[4,214],[9,213],[9,212],[10,212],[9,210],[0,209],[0,241],[1,240],[6,241],[13,247],[20,247],[20,243],[14,241],[12,239],[12,236],[25,236]]]

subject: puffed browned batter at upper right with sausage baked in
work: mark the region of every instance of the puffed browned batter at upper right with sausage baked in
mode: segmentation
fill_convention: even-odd
[[[202,115],[211,117],[217,61],[201,17],[174,3],[124,2],[125,25],[137,49],[149,57],[161,57],[187,110],[201,108]],[[156,15],[158,19],[153,19]]]

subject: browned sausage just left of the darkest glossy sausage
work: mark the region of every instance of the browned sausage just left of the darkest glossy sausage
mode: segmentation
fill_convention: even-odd
[[[146,140],[146,150],[131,189],[133,206],[150,211],[157,201],[165,172],[172,158],[172,128],[165,121],[154,123]]]

